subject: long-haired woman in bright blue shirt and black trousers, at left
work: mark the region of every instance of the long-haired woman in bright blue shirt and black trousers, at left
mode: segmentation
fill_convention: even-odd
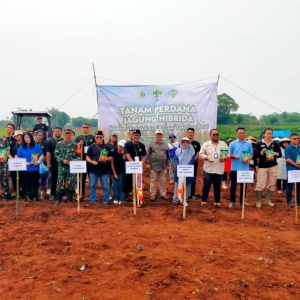
[[[31,133],[24,134],[17,157],[25,158],[27,173],[24,174],[25,197],[27,200],[36,201],[39,189],[39,159],[43,159],[43,151],[33,139]]]

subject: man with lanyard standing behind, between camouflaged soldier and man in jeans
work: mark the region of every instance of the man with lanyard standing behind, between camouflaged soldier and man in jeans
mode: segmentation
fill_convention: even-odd
[[[79,135],[75,141],[83,149],[83,160],[86,160],[86,154],[90,145],[95,143],[95,137],[90,134],[91,125],[88,123],[82,124],[82,135]],[[87,165],[87,173],[89,173],[89,164]],[[85,194],[85,181],[87,173],[82,173],[82,199],[84,199]]]

